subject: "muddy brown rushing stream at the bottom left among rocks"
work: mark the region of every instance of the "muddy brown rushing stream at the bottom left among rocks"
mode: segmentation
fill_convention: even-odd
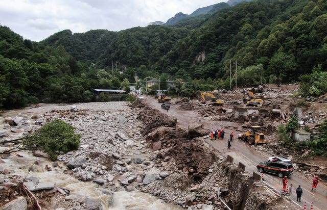
[[[154,196],[138,191],[115,192],[112,202],[110,195],[101,194],[99,186],[96,183],[82,182],[71,175],[65,174],[64,169],[66,167],[63,165],[63,163],[59,163],[58,167],[53,168],[51,166],[51,162],[46,161],[43,158],[36,158],[35,156],[22,151],[20,151],[19,154],[23,155],[23,157],[20,158],[18,156],[11,155],[8,158],[3,159],[5,163],[1,164],[3,168],[11,171],[11,175],[16,174],[20,177],[38,177],[40,182],[54,181],[56,186],[70,190],[71,195],[84,195],[89,198],[100,200],[104,209],[182,209],[177,205],[165,203]],[[37,164],[35,164],[35,161],[37,161]],[[51,166],[52,170],[45,170],[44,168],[46,165]],[[30,172],[28,172],[29,168],[32,168]]]

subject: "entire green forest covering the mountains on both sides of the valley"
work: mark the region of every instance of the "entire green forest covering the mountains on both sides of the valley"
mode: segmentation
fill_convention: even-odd
[[[181,95],[229,89],[236,63],[238,85],[300,81],[306,94],[325,93],[327,2],[243,2],[170,26],[65,30],[41,42],[0,25],[0,106],[90,101],[94,88],[128,88],[135,74],[189,82],[172,90]]]

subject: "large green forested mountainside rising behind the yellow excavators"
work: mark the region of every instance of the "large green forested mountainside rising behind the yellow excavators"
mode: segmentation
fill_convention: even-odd
[[[261,65],[266,82],[274,77],[296,81],[319,63],[326,67],[326,4],[322,0],[243,2],[175,27],[124,30],[112,36],[94,63],[110,67],[112,60],[183,79],[225,79],[231,59],[238,62],[240,74],[242,69]],[[186,24],[198,28],[182,30],[188,28]],[[56,43],[75,56],[72,45]],[[198,55],[205,59],[197,62]]]

